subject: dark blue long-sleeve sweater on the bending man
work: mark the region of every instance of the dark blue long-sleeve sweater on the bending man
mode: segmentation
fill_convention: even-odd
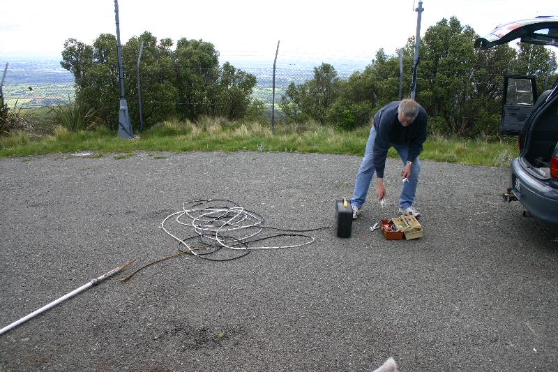
[[[391,144],[406,144],[409,146],[407,160],[414,161],[423,151],[426,140],[428,114],[421,105],[418,105],[418,114],[410,126],[402,126],[398,119],[399,101],[385,105],[374,115],[374,128],[376,140],[372,154],[374,168],[378,178],[384,178],[386,157]]]

